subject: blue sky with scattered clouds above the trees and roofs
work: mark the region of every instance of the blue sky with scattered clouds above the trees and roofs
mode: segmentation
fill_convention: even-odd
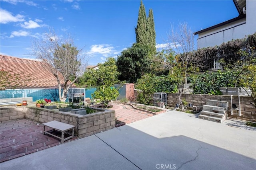
[[[154,14],[156,43],[164,47],[171,24],[187,22],[193,32],[238,16],[232,0],[144,0]],[[74,44],[90,60],[107,57],[136,42],[134,27],[140,0],[0,0],[0,53],[35,59],[30,47],[53,28],[59,36],[74,35]]]

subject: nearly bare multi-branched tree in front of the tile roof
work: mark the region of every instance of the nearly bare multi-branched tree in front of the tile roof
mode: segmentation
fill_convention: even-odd
[[[74,46],[74,39],[58,37],[54,31],[46,33],[42,39],[34,39],[33,55],[44,62],[58,82],[59,99],[65,102],[68,89],[76,82],[84,59],[82,51]],[[71,82],[70,80],[73,81]],[[63,90],[62,90],[63,87]]]

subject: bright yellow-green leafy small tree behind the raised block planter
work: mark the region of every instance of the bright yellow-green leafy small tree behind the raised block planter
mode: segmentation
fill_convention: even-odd
[[[119,92],[114,88],[114,84],[118,81],[116,60],[112,57],[108,58],[104,64],[99,64],[98,69],[89,69],[86,73],[90,78],[87,82],[89,87],[95,87],[96,91],[92,97],[102,101],[102,107],[106,108],[110,100],[116,100]]]

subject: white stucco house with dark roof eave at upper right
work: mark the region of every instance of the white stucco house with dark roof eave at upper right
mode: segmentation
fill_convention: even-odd
[[[198,35],[197,47],[214,47],[232,39],[242,39],[256,32],[256,0],[233,0],[238,17],[202,29]]]

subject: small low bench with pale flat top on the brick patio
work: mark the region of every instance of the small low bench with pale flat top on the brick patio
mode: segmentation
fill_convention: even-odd
[[[47,123],[43,123],[43,125],[44,125],[44,134],[46,133],[48,135],[51,135],[53,137],[56,137],[56,138],[60,139],[61,143],[64,143],[64,141],[74,137],[74,127],[75,127],[74,125],[69,125],[67,123],[62,123],[62,122],[55,121],[55,120],[47,122]],[[58,137],[58,136],[50,133],[50,131],[45,131],[45,126],[50,127],[54,130],[60,131],[61,132],[61,137]],[[71,130],[71,129],[72,129],[72,136],[69,136],[69,137],[65,138],[65,132],[68,131],[68,130]]]

